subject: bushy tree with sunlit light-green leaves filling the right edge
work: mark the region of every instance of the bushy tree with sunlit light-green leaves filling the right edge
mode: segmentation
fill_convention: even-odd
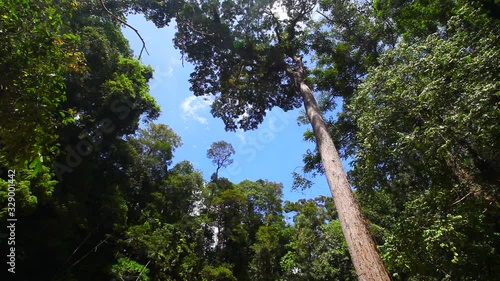
[[[446,31],[402,42],[369,71],[349,114],[354,184],[384,201],[384,256],[402,280],[498,273],[499,22],[462,7]]]

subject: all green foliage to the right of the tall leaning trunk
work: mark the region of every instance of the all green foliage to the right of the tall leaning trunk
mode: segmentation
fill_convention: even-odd
[[[394,277],[495,279],[498,2],[322,3],[320,104]]]

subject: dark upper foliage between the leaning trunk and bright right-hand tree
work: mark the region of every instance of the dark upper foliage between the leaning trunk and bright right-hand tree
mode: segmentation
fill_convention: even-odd
[[[316,62],[311,80],[320,93],[318,104],[330,135],[347,158],[354,152],[357,125],[342,109],[350,104],[369,67],[377,65],[378,56],[394,47],[398,35],[387,22],[374,17],[373,7],[365,1],[323,0],[319,12],[324,17],[315,22],[309,35]],[[331,116],[332,111],[339,113]],[[307,131],[304,139],[314,141],[313,132]],[[323,173],[317,149],[304,154],[304,163],[304,172]]]

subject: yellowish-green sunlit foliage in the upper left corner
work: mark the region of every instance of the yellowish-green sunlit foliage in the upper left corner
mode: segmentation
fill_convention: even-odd
[[[0,161],[9,167],[28,168],[34,161],[40,166],[43,157],[53,159],[55,132],[72,120],[61,107],[64,75],[85,72],[78,36],[63,27],[74,5],[43,0],[0,5]]]

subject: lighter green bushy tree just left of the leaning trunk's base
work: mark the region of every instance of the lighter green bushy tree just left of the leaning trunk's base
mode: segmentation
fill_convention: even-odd
[[[286,202],[285,210],[295,212],[281,259],[287,280],[356,280],[331,198]]]

